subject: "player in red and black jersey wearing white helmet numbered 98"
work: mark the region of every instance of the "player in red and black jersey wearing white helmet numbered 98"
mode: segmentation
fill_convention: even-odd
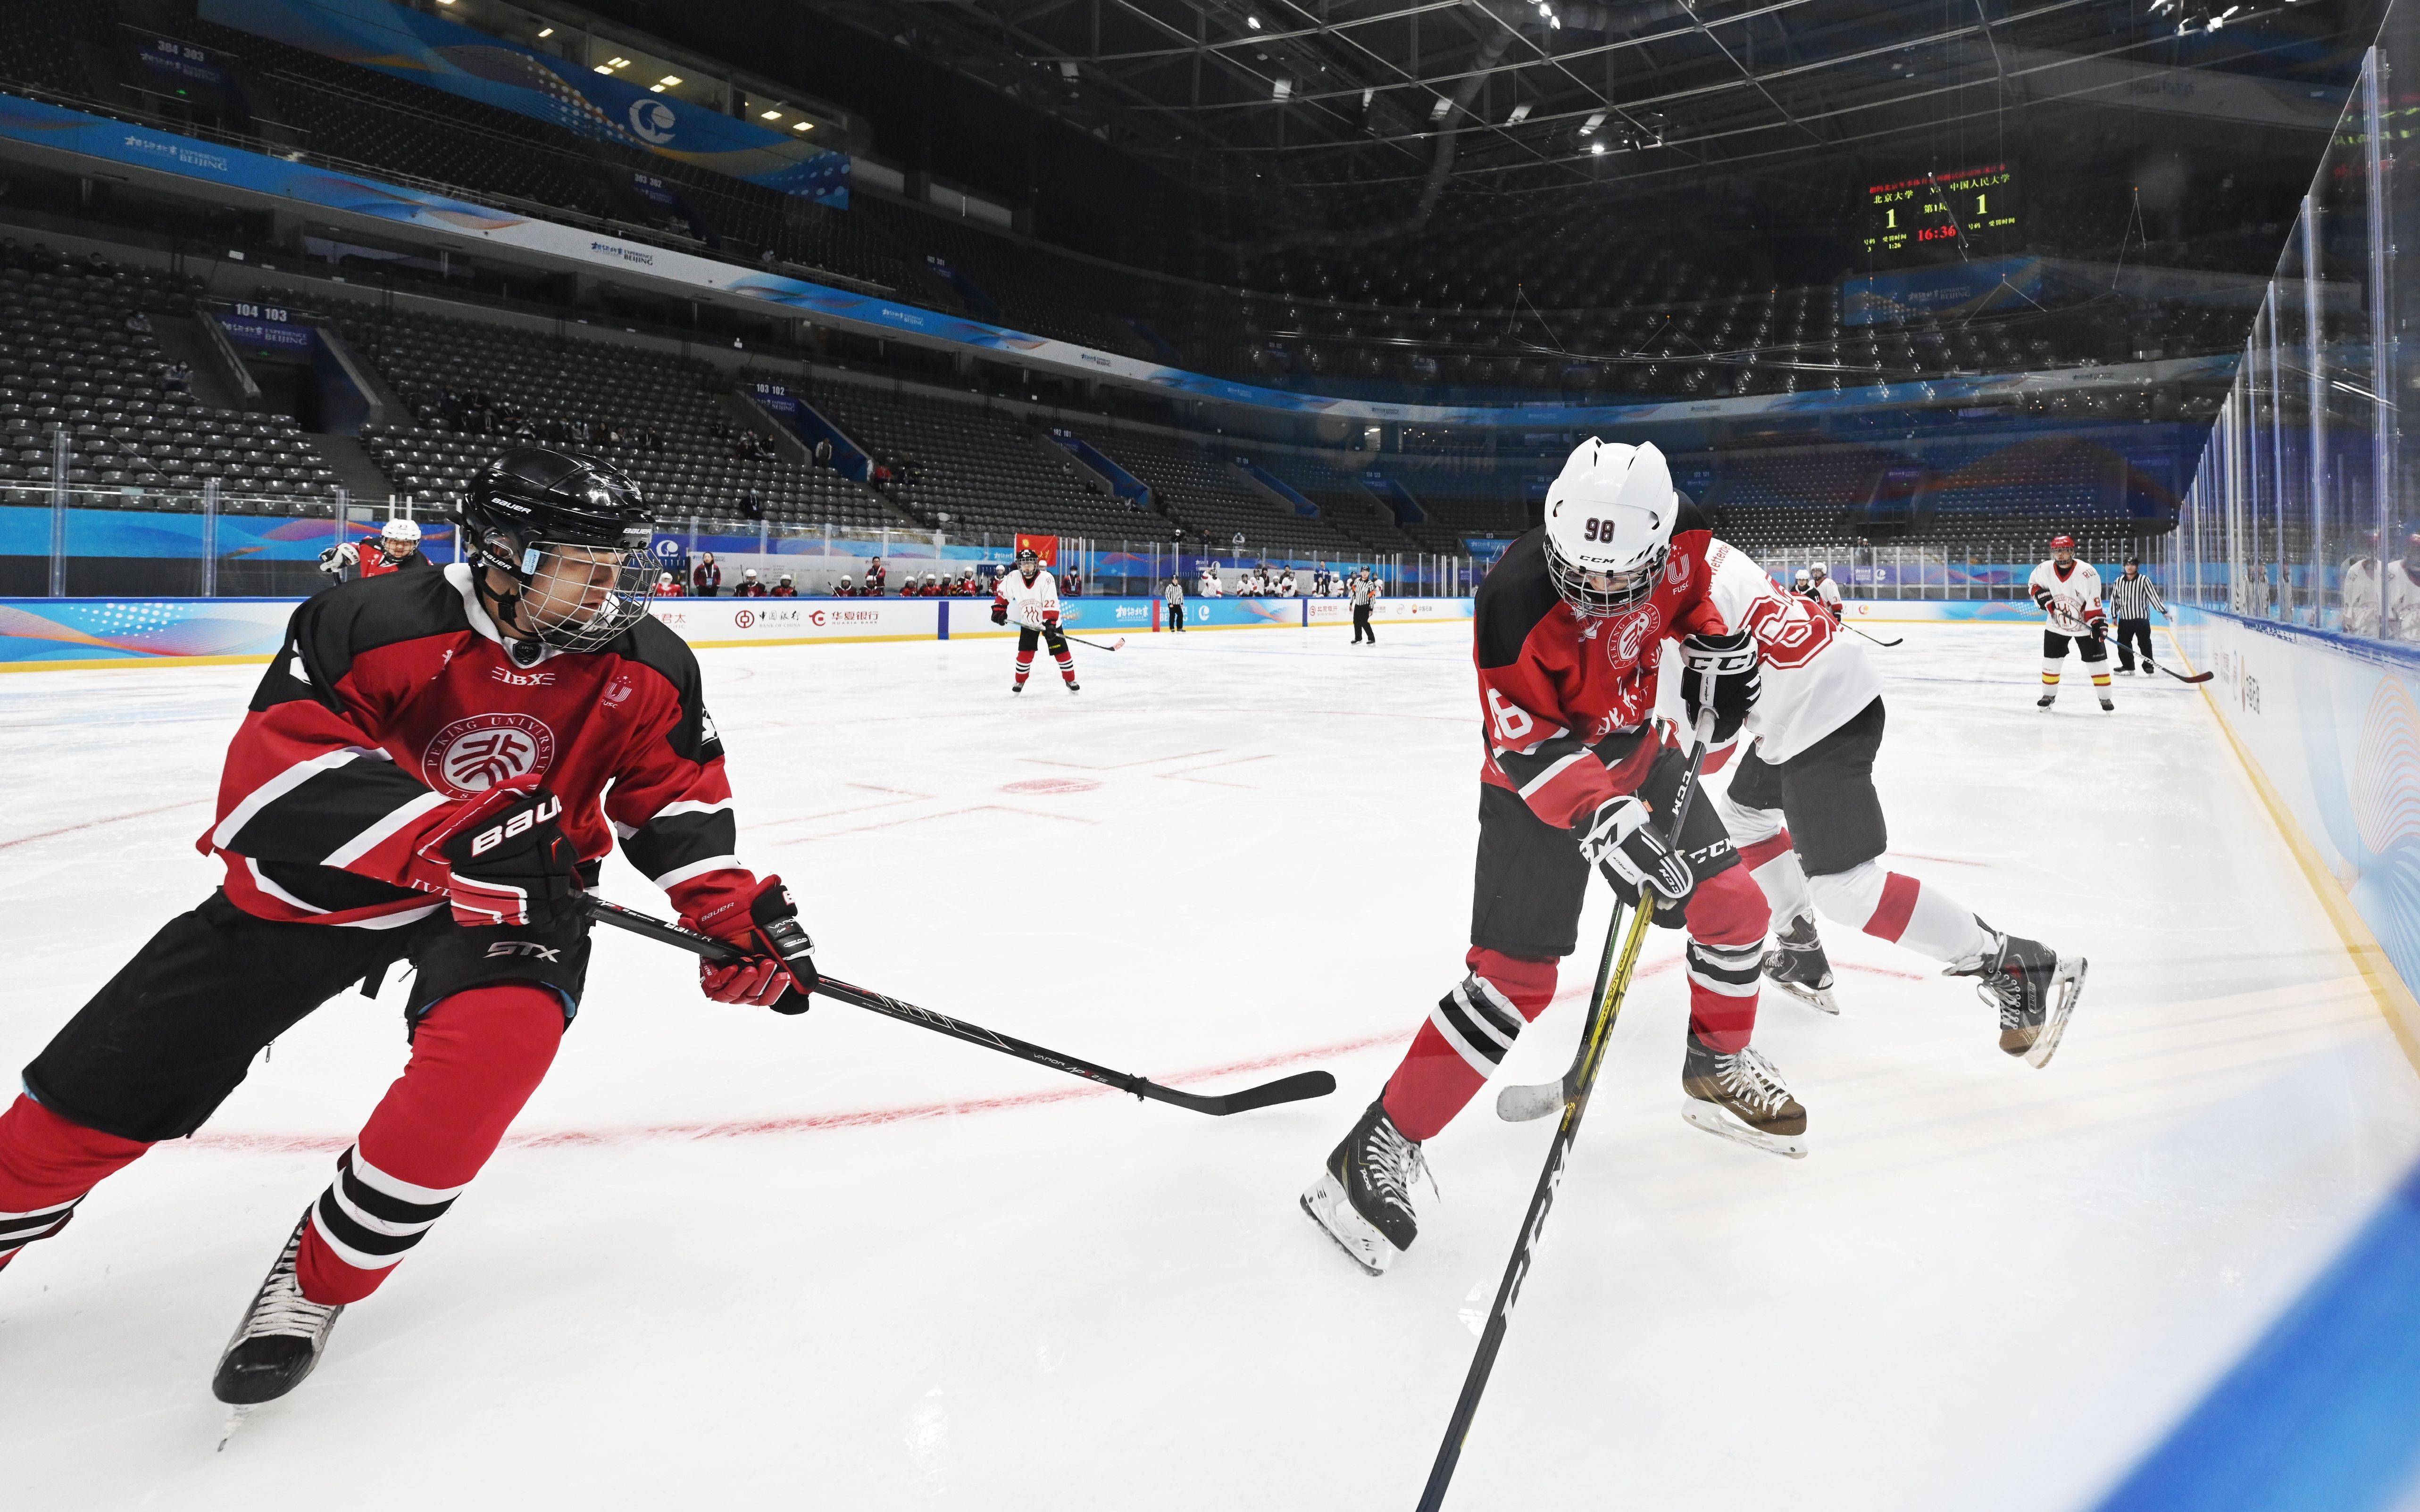
[[[1588,876],[1626,900],[1655,895],[1687,929],[1689,1031],[1682,1106],[1692,1125],[1805,1154],[1805,1108],[1750,1050],[1771,919],[1711,806],[1660,825],[1687,755],[1653,721],[1663,641],[1711,617],[1706,520],[1672,489],[1653,445],[1583,443],[1546,491],[1539,530],[1479,585],[1474,660],[1483,764],[1467,975],[1428,1014],[1404,1062],[1302,1193],[1302,1210],[1379,1275],[1418,1229],[1411,1185],[1433,1139],[1554,999],[1578,943]],[[1721,651],[1747,651],[1725,636]],[[1745,658],[1754,668],[1754,658]],[[1754,677],[1716,677],[1723,738]]]

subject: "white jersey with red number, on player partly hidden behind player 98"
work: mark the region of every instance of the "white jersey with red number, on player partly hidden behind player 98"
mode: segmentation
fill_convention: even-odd
[[[1883,675],[1815,600],[1786,593],[1730,542],[1706,547],[1706,571],[1723,624],[1757,639],[1764,689],[1745,731],[1767,762],[1786,762],[1863,714],[1883,694]]]

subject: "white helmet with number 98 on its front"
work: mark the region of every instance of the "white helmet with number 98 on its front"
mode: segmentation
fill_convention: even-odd
[[[1614,614],[1655,593],[1672,556],[1679,494],[1653,443],[1590,435],[1546,489],[1546,571],[1585,614]]]

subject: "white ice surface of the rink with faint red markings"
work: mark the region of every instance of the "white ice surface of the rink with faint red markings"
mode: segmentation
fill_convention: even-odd
[[[2088,1507],[2420,1149],[2202,692],[2120,677],[2103,716],[2072,673],[2045,716],[2033,629],[1883,634],[1890,864],[2088,953],[2074,1026],[2033,1072],[1967,982],[1830,927],[1844,1016],[1767,994],[1757,1031],[1810,1110],[1784,1161],[1679,1120],[1658,931],[1454,1507]],[[999,641],[702,653],[743,856],[828,970],[1198,1089],[1324,1064],[1333,1098],[1137,1106],[709,1004],[603,934],[508,1147],[213,1454],[211,1364],[402,1067],[399,989],[341,997],[0,1272],[0,1500],[1411,1507],[1549,1125],[1483,1096],[1430,1142],[1384,1280],[1295,1207],[1462,973],[1469,631],[1382,636],[1137,636],[1019,702]],[[0,680],[7,1067],[213,885],[191,839],[257,677]],[[605,893],[663,910],[622,861]]]

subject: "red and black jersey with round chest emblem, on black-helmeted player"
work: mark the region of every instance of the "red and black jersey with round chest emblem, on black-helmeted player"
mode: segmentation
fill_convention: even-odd
[[[460,801],[528,774],[561,796],[581,861],[620,835],[685,914],[755,885],[690,646],[641,619],[605,651],[523,665],[462,564],[295,610],[196,844],[249,914],[390,929],[445,907],[404,885],[414,852]]]

